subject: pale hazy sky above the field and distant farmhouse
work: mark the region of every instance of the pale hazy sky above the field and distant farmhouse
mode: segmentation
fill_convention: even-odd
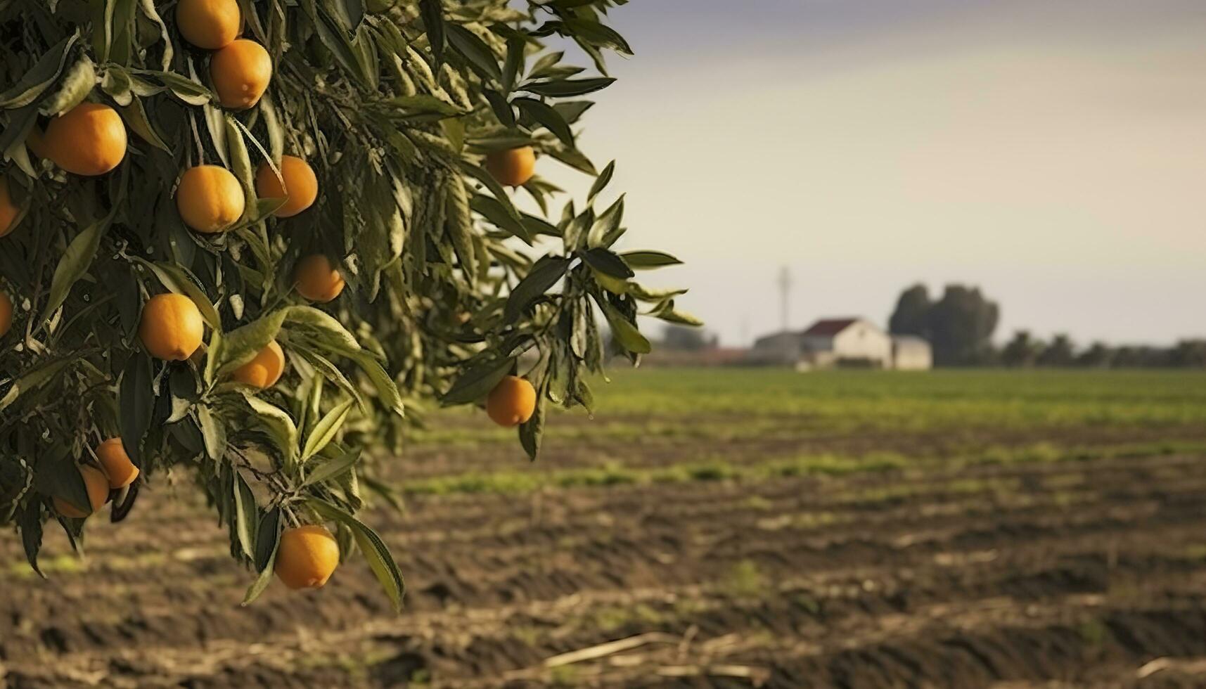
[[[636,56],[579,145],[617,160],[617,249],[686,262],[639,278],[689,287],[722,344],[780,328],[783,267],[791,328],[885,323],[920,281],[979,286],[997,340],[1206,337],[1206,2],[633,0],[609,22]]]

